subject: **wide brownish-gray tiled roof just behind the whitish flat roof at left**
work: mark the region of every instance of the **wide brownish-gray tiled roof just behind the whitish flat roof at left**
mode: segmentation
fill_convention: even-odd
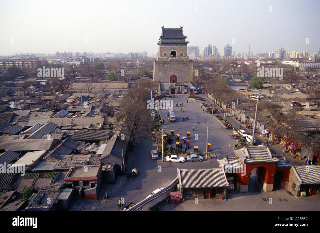
[[[56,141],[56,140],[55,140]],[[17,139],[11,140],[6,150],[13,151],[32,151],[32,150],[48,150],[51,148],[54,139]]]

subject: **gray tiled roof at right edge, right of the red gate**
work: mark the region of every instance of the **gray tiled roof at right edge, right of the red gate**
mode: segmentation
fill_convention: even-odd
[[[320,166],[292,166],[301,184],[320,184]]]

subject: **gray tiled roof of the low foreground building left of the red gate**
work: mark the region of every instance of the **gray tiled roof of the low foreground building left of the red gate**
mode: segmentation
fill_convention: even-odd
[[[219,168],[177,168],[177,173],[182,189],[228,187],[226,174]]]

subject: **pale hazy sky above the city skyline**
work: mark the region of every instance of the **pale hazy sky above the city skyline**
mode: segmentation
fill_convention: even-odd
[[[183,26],[188,46],[233,51],[320,48],[320,1],[1,1],[0,54],[156,53],[161,27]],[[270,12],[271,10],[271,12]],[[306,38],[309,44],[306,44]],[[233,39],[234,38],[234,39]],[[233,43],[235,42],[235,43]]]

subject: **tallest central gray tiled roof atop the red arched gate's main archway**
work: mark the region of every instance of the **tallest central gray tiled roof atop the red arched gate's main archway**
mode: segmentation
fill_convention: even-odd
[[[234,152],[244,164],[279,162],[277,157],[272,156],[268,147],[244,147]]]

